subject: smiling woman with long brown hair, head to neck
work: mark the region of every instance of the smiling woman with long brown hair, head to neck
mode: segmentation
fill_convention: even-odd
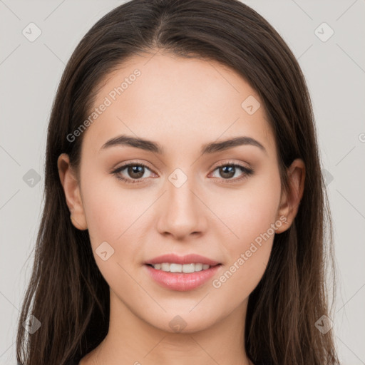
[[[19,363],[339,364],[309,93],[250,7],[106,14],[63,73],[45,175]]]

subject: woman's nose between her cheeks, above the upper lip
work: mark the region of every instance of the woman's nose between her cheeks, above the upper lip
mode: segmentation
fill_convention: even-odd
[[[187,178],[181,186],[171,181],[166,181],[167,192],[159,207],[158,232],[175,240],[201,235],[207,223],[207,207],[202,202],[200,189],[193,178]]]

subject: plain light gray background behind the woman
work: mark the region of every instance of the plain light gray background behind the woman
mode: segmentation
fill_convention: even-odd
[[[16,364],[15,328],[41,214],[46,126],[58,81],[81,37],[122,2],[0,0],[0,365]],[[307,78],[334,220],[333,331],[342,363],[365,364],[365,1],[243,2],[279,31]],[[22,34],[31,22],[41,29],[33,42]],[[327,41],[318,37],[329,35],[323,22],[334,31]],[[38,183],[30,180],[37,175]]]

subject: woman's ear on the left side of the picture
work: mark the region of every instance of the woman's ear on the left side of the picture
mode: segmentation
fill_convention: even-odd
[[[87,230],[88,225],[83,211],[80,186],[66,153],[58,156],[57,165],[63,191],[66,195],[66,204],[71,212],[71,222],[78,230]]]

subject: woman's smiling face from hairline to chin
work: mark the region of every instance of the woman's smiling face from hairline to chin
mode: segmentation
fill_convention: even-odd
[[[289,227],[277,147],[255,90],[220,63],[134,56],[98,89],[90,120],[69,137],[83,134],[68,205],[120,306],[165,331],[174,321],[199,331],[245,312],[274,234]],[[122,135],[153,144],[125,144]],[[223,143],[232,138],[242,139]],[[192,274],[145,264],[168,254],[219,264]]]

